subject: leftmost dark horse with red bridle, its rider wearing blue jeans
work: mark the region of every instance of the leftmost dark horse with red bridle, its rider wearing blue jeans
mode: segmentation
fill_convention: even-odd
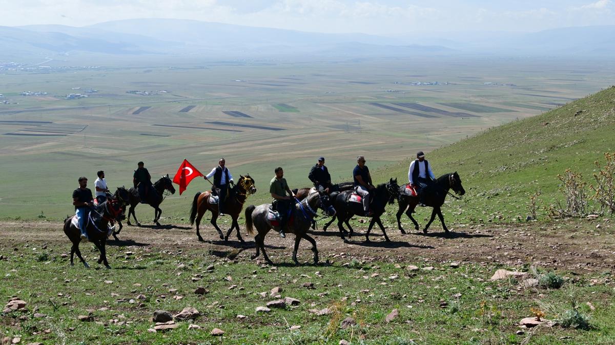
[[[115,198],[109,197],[107,201],[92,207],[92,211],[90,211],[90,214],[88,215],[85,226],[85,231],[90,242],[92,242],[100,252],[98,263],[104,263],[106,268],[111,268],[107,262],[107,254],[105,249],[107,237],[110,232],[108,225],[109,223],[113,223],[117,220],[117,217],[121,212],[121,203]],[[79,250],[81,230],[73,224],[72,220],[74,217],[74,215],[71,215],[64,220],[64,233],[68,236],[71,242],[73,242],[73,246],[71,247],[71,266],[74,266],[73,258],[74,254],[77,253],[77,257],[79,257],[79,260],[81,260],[85,268],[90,268],[90,265],[85,262],[81,256],[81,251]]]

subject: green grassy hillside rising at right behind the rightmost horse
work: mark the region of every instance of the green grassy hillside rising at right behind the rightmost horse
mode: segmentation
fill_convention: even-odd
[[[525,221],[534,193],[539,193],[538,219],[544,220],[546,207],[556,198],[563,200],[557,175],[571,169],[592,182],[594,162],[603,165],[603,154],[615,151],[613,133],[615,87],[610,87],[542,115],[434,150],[427,158],[436,176],[458,171],[466,188],[462,201],[448,198],[445,213],[449,222]],[[408,154],[419,149],[409,148]],[[407,180],[409,165],[410,158],[380,169],[374,174],[375,180],[397,177],[401,184]],[[422,218],[431,209],[418,212]]]

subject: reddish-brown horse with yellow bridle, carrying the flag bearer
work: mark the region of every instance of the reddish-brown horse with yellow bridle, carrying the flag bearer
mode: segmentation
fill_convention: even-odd
[[[240,175],[241,176],[241,175]],[[209,200],[211,198],[212,192],[198,192],[194,195],[194,200],[192,201],[192,208],[190,209],[190,225],[193,225],[196,221],[196,235],[199,237],[199,241],[204,242],[205,240],[200,236],[199,233],[199,224],[200,219],[202,219],[203,215],[207,210],[212,212],[212,223],[213,227],[218,231],[218,235],[220,235],[220,239],[224,241],[228,241],[229,235],[233,228],[237,229],[237,238],[239,241],[244,242],[244,239],[241,238],[241,234],[239,233],[239,224],[237,223],[237,218],[239,218],[239,214],[241,210],[244,208],[245,200],[248,198],[248,195],[256,193],[256,187],[254,185],[254,179],[250,177],[250,174],[246,176],[241,176],[237,184],[231,188],[229,193],[226,195],[226,200],[224,201],[224,209],[226,210],[226,214],[230,215],[232,218],[231,228],[226,233],[226,236],[222,235],[222,231],[218,227],[216,220],[218,219],[218,204],[210,204]],[[222,201],[218,201],[221,203]]]

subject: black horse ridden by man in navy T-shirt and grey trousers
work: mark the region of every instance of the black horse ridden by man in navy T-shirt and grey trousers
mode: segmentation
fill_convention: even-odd
[[[350,227],[348,221],[352,218],[353,215],[359,215],[360,217],[365,217],[363,215],[365,212],[363,211],[362,203],[354,203],[349,202],[348,198],[353,193],[352,190],[347,190],[346,192],[339,193],[333,202],[333,206],[335,207],[335,211],[337,211],[336,217],[338,219],[338,228],[339,235],[344,240],[344,242],[348,243],[349,241],[344,237],[344,226],[343,223],[346,223],[350,232],[348,237],[351,238],[354,230]],[[384,226],[382,221],[380,220],[380,216],[384,213],[384,207],[386,207],[387,202],[389,204],[393,204],[395,199],[399,196],[399,186],[397,185],[397,179],[391,179],[386,184],[379,184],[376,188],[370,190],[370,209],[373,211],[373,215],[371,216],[370,226],[367,229],[367,233],[365,234],[365,241],[370,241],[370,231],[374,226],[374,223],[377,223],[380,227],[380,230],[383,231],[384,239],[387,242],[391,240],[386,235],[386,231],[384,231]],[[331,220],[333,221],[333,220]]]

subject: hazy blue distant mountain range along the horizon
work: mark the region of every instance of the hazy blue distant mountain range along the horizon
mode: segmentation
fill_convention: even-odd
[[[561,28],[529,34],[451,33],[397,37],[307,33],[158,18],[108,21],[82,28],[0,26],[1,60],[71,53],[212,58],[476,53],[608,56],[615,53],[615,25]]]

